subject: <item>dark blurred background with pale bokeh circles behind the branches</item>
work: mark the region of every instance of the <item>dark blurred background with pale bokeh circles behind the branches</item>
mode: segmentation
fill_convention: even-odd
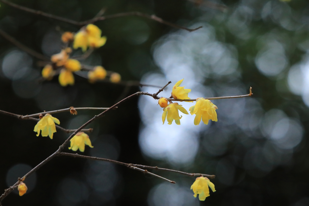
[[[94,148],[79,154],[126,163],[215,174],[216,192],[204,202],[193,197],[195,178],[153,171],[176,184],[123,166],[57,157],[2,205],[309,205],[309,3],[305,0],[27,0],[19,5],[76,21],[139,11],[188,28],[188,32],[142,17],[96,22],[107,43],[83,61],[121,74],[123,81],[192,89],[190,98],[244,95],[214,100],[218,122],[162,125],[162,108],[149,96],[122,104],[91,123]],[[47,57],[60,52],[61,32],[79,27],[32,15],[1,3],[0,29]],[[211,8],[210,8],[210,5]],[[158,89],[108,81],[88,83],[77,73],[75,85],[57,77],[38,81],[38,60],[0,36],[0,109],[26,115],[74,107],[110,107],[137,91]],[[73,55],[79,55],[80,50]],[[124,90],[128,90],[124,93]],[[193,103],[182,103],[188,110]],[[98,114],[58,113],[60,126],[80,127]],[[36,122],[1,115],[0,191],[8,188],[56,151],[68,134],[36,137]],[[65,149],[65,152],[71,152]],[[75,153],[75,152],[73,152]],[[1,193],[1,192],[0,192]]]

